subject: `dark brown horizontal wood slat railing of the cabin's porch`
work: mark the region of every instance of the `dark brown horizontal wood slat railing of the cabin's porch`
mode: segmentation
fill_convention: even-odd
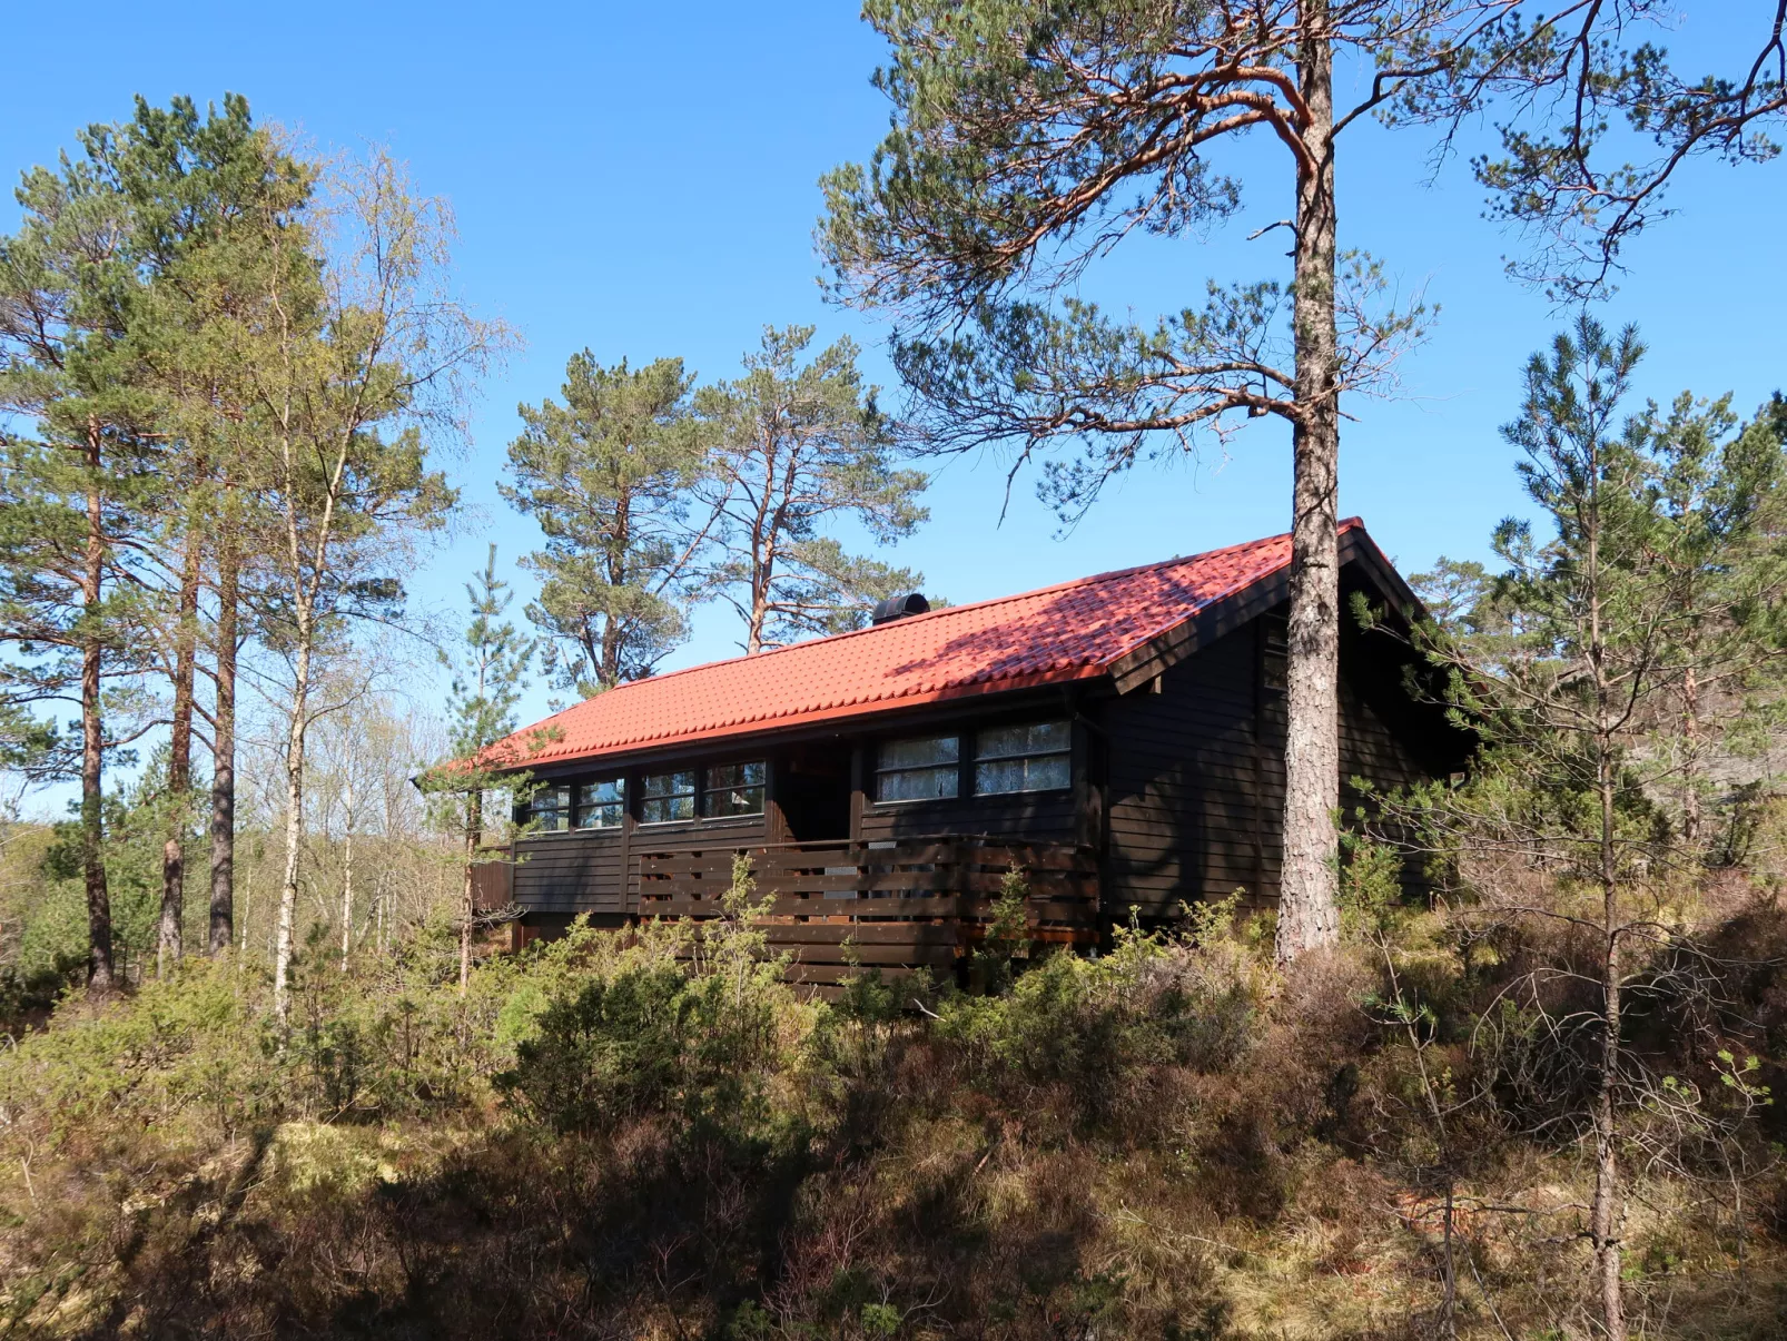
[[[904,976],[944,976],[986,933],[1006,871],[1029,883],[1036,940],[1097,937],[1099,876],[1090,851],[994,839],[804,842],[751,848],[634,848],[642,917],[715,917],[733,883],[733,856],[751,860],[763,930],[790,953],[788,978],[826,989],[851,964]]]

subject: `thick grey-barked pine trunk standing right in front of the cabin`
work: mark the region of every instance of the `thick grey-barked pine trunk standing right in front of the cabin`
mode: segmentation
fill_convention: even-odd
[[[1338,334],[1335,327],[1333,50],[1322,0],[1303,7],[1313,30],[1299,61],[1308,105],[1297,175],[1296,383],[1292,429],[1290,628],[1285,733],[1285,864],[1278,958],[1340,933],[1337,907],[1340,806],[1340,540]]]

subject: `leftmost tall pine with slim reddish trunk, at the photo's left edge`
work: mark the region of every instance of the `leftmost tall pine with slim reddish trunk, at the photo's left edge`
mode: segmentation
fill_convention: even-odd
[[[0,624],[18,647],[13,704],[79,703],[88,980],[113,982],[104,856],[105,683],[139,670],[141,536],[154,488],[154,411],[125,352],[154,283],[118,172],[122,127],[80,134],[80,156],[34,168],[20,231],[0,240],[0,408],[32,438],[5,438]]]

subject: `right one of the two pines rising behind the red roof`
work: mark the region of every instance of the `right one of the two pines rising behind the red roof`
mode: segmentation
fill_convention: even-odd
[[[881,544],[911,535],[929,515],[927,479],[895,463],[895,426],[856,368],[849,338],[810,359],[811,325],[765,329],[745,375],[702,390],[715,427],[702,481],[722,597],[745,622],[745,651],[860,628],[874,601],[911,592],[924,576],[845,552],[826,529],[854,520]]]

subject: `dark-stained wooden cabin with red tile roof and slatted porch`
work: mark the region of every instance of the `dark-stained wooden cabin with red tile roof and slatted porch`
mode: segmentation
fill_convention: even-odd
[[[1344,599],[1415,597],[1356,520]],[[499,746],[543,783],[534,831],[484,901],[515,942],[577,914],[620,926],[711,915],[734,853],[774,894],[797,982],[847,960],[956,967],[1004,871],[1042,940],[1095,944],[1181,899],[1278,892],[1290,538],[642,679]],[[1406,645],[1342,611],[1342,783],[1462,767],[1406,690]],[[849,940],[849,948],[845,948]]]

